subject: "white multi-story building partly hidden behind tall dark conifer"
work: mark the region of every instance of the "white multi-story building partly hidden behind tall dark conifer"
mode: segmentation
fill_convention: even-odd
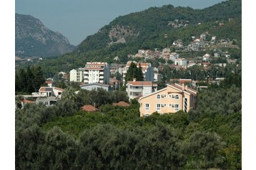
[[[144,81],[154,81],[154,68],[151,66],[150,63],[137,63],[136,61],[128,61],[127,65],[124,67],[123,70],[123,84],[125,82],[125,76],[127,74],[129,66],[132,64],[132,62],[137,65],[137,68],[139,68],[139,66],[142,67]]]

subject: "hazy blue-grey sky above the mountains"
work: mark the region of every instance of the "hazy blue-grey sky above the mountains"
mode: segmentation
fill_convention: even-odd
[[[117,16],[166,4],[203,9],[221,1],[224,0],[16,0],[15,12],[40,19],[47,28],[66,36],[70,44],[78,45]]]

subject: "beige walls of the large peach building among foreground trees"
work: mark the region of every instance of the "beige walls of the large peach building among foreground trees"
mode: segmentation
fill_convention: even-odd
[[[160,95],[161,98],[157,99],[157,95]],[[171,97],[170,97],[170,95],[171,95]],[[174,96],[178,95],[179,99],[172,98],[172,95],[174,95]],[[166,97],[162,98],[162,96],[166,96]],[[158,93],[149,95],[149,96],[139,100],[140,116],[143,116],[144,114],[152,114],[155,111],[157,111],[157,104],[160,104],[160,110],[157,111],[157,112],[159,112],[159,114],[175,113],[178,110],[184,111],[184,99],[185,98],[187,98],[187,111],[189,111],[189,109],[191,109],[189,94],[180,92],[176,89],[173,89],[170,86],[167,86],[167,88],[160,90]],[[195,100],[193,100],[193,101],[195,101]],[[146,109],[146,104],[149,104],[149,109]],[[162,104],[163,104],[163,107],[162,107]],[[171,104],[171,106],[169,106],[169,104]],[[174,107],[172,106],[173,104],[174,104]],[[175,110],[175,104],[179,104],[178,110]]]

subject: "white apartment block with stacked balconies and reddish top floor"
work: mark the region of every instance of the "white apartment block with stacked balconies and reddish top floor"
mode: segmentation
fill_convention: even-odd
[[[84,67],[84,82],[92,83],[109,83],[109,64],[105,62],[87,62]]]

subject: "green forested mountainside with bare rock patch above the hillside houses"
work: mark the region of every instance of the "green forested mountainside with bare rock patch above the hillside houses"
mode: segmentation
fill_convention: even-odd
[[[174,28],[172,23],[176,20],[187,26]],[[119,16],[96,34],[87,36],[72,53],[48,59],[40,66],[45,71],[70,71],[84,66],[86,61],[112,63],[115,56],[125,62],[127,55],[136,54],[138,49],[163,49],[177,39],[187,45],[191,36],[205,32],[217,39],[236,39],[241,47],[242,1],[222,1],[205,9],[165,5]]]

